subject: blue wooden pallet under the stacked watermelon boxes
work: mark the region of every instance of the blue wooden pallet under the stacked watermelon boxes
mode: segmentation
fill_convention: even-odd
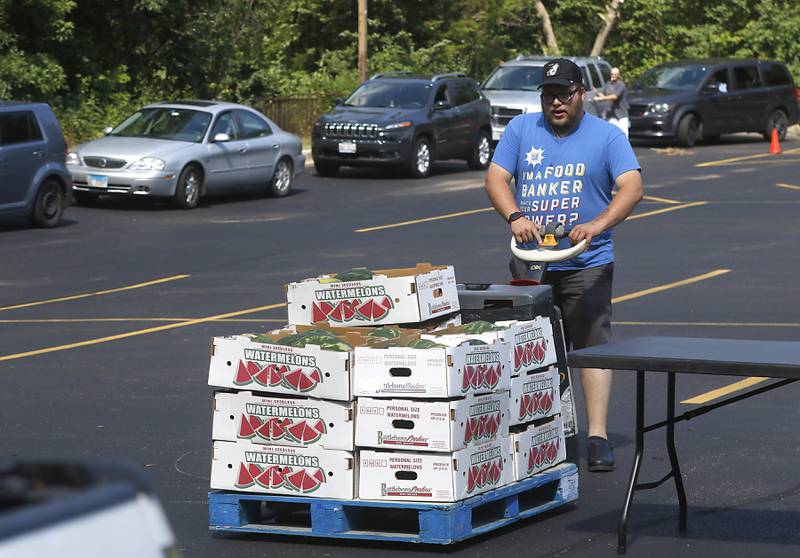
[[[451,504],[208,494],[212,531],[451,544],[578,498],[578,468],[563,463]],[[380,510],[380,512],[378,512]]]

